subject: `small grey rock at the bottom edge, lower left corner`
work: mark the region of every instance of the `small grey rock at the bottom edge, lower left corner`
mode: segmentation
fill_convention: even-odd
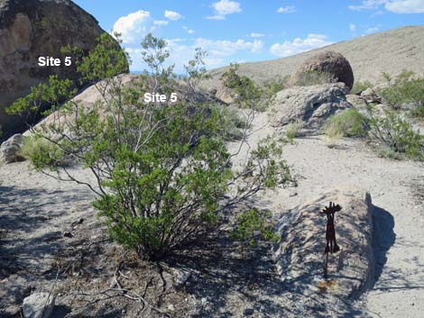
[[[49,318],[53,313],[54,295],[34,293],[23,299],[23,317]]]

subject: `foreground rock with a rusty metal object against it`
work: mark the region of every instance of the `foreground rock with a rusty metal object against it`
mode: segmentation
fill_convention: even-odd
[[[329,255],[324,279],[327,217],[320,211],[329,202],[342,206],[335,216],[341,250]],[[373,280],[372,206],[364,189],[338,186],[285,214],[277,224],[281,241],[274,253],[283,284],[301,295],[349,297],[364,291]]]

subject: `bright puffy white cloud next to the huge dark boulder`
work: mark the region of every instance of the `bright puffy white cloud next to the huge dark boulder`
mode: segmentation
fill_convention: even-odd
[[[150,18],[148,11],[139,10],[120,17],[114,24],[113,32],[121,33],[124,43],[139,40],[146,33],[146,22]]]

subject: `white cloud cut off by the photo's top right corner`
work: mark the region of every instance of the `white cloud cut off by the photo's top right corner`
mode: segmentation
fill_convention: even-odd
[[[382,5],[394,14],[424,14],[424,0],[363,0],[361,5],[349,5],[349,9],[376,10]]]

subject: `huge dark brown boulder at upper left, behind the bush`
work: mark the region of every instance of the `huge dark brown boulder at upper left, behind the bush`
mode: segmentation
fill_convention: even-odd
[[[104,31],[97,20],[70,0],[0,0],[0,125],[6,135],[23,130],[23,121],[5,107],[27,95],[50,75],[75,79],[60,48],[88,52]],[[39,57],[61,59],[60,67],[40,67]]]

